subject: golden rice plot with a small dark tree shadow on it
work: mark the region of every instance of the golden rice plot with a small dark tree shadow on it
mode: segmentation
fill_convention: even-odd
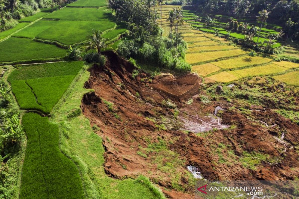
[[[242,57],[213,62],[212,64],[222,69],[231,69],[231,68],[256,66],[256,65],[266,64],[271,61],[273,60],[269,58],[260,57],[260,56],[256,56],[256,57],[242,56]]]

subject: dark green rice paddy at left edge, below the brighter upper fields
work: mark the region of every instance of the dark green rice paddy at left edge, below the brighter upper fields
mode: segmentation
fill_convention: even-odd
[[[56,58],[66,55],[66,50],[26,38],[8,38],[0,42],[0,62]]]

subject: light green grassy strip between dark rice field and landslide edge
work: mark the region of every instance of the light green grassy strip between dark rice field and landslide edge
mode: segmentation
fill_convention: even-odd
[[[88,90],[83,86],[89,79],[86,70],[70,86],[68,95],[53,108],[51,121],[60,125],[61,148],[70,154],[80,173],[83,175],[85,198],[164,198],[163,194],[147,178],[118,180],[109,178],[104,171],[102,138],[91,129],[89,120],[84,116],[68,119],[74,109],[80,109],[83,94]]]

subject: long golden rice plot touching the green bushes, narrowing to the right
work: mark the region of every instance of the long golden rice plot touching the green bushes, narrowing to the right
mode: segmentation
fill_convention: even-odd
[[[213,61],[219,58],[228,58],[238,55],[247,54],[246,51],[237,49],[237,50],[226,50],[226,51],[216,51],[216,52],[205,52],[205,53],[187,53],[186,54],[186,61],[191,64],[195,65],[197,63],[202,63],[206,61]]]

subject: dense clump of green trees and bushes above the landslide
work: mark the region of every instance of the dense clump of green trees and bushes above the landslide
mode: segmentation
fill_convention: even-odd
[[[156,64],[162,68],[187,72],[190,64],[184,61],[186,43],[179,34],[161,36],[157,23],[158,15],[152,10],[155,1],[109,1],[109,7],[116,10],[118,20],[125,21],[129,30],[127,39],[118,45],[118,53],[132,57],[141,63]],[[182,20],[181,10],[169,13],[170,27]]]

